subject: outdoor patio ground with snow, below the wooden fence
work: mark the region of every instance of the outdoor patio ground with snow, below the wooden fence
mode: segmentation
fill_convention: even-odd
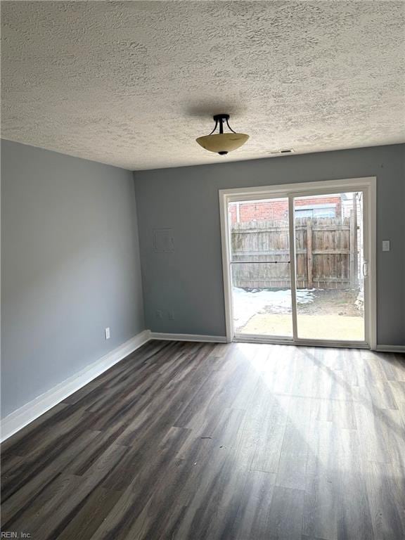
[[[297,290],[298,336],[308,339],[364,340],[358,290]],[[290,290],[233,289],[238,333],[292,336]]]

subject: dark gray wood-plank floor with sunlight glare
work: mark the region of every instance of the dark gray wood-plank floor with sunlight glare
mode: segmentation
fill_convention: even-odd
[[[405,538],[404,356],[149,342],[8,439],[32,539]]]

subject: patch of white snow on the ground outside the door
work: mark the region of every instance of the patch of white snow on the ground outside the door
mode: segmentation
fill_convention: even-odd
[[[314,289],[297,290],[297,303],[314,302]],[[249,319],[257,313],[290,313],[291,291],[253,289],[247,291],[233,287],[233,319],[236,328],[245,326]]]

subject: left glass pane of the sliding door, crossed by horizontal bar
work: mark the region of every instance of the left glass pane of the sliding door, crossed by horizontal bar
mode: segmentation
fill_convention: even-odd
[[[235,334],[293,338],[288,198],[228,210]]]

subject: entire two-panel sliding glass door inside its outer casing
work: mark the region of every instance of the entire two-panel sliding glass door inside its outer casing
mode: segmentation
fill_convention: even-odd
[[[225,281],[233,338],[367,344],[366,194],[313,188],[231,197]]]

